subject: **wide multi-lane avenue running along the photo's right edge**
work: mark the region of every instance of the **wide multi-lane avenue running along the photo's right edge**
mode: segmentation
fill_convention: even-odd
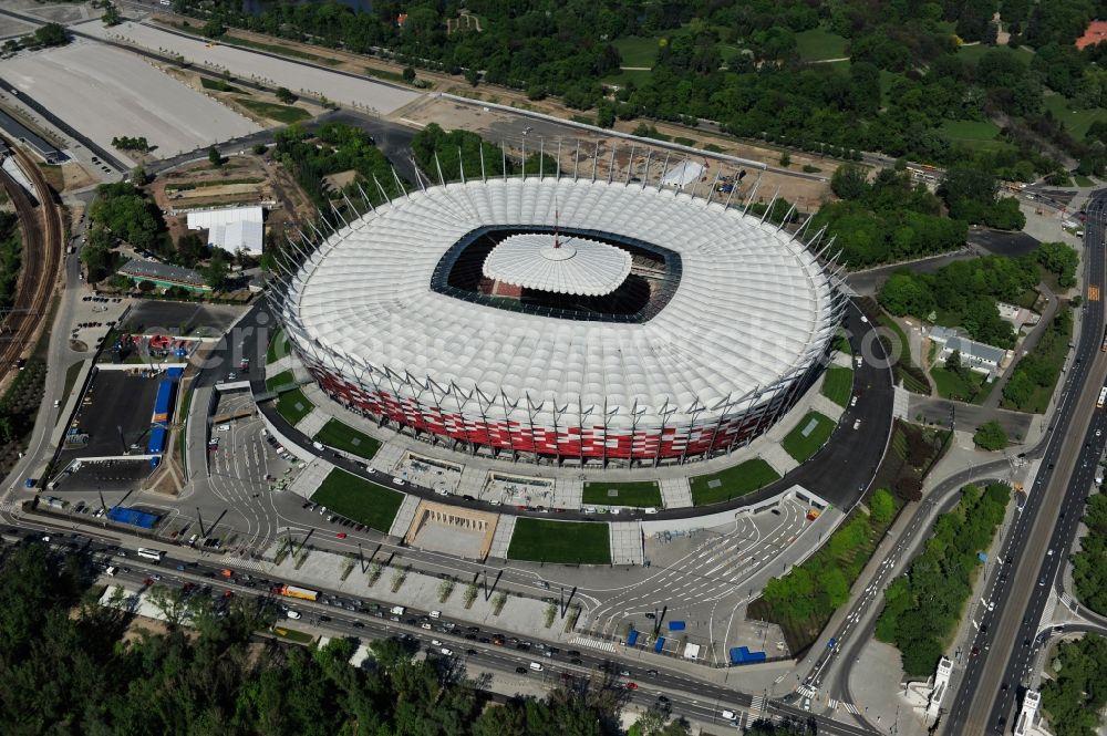
[[[1088,206],[1087,282],[1103,288],[1107,193]],[[1087,301],[1076,359],[1054,416],[1045,467],[1028,490],[1026,507],[1011,532],[1011,581],[996,591],[994,612],[985,612],[974,640],[980,655],[970,660],[956,698],[944,718],[944,733],[1003,733],[1017,715],[1023,688],[1038,646],[1038,624],[1051,588],[1057,584],[1066,550],[1074,540],[1092,474],[1104,450],[1105,413],[1096,408],[1107,374],[1100,352],[1101,301]],[[991,624],[985,629],[985,624]]]

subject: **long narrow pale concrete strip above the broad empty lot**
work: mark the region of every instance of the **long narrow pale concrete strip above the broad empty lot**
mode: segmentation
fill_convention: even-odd
[[[340,104],[356,104],[381,115],[395,112],[421,95],[418,92],[275,59],[223,43],[209,48],[201,39],[139,23],[127,22],[104,28],[102,23],[93,22],[83,23],[77,29],[90,35],[120,38],[144,49],[163,49],[194,63],[229,69],[239,76],[270,80],[272,86],[288,87],[292,92],[323,94]]]

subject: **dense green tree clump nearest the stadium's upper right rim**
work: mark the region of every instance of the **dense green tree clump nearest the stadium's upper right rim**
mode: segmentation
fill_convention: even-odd
[[[865,169],[839,167],[831,187],[842,201],[824,205],[808,228],[826,237],[851,268],[909,260],[963,248],[968,226],[941,216],[941,201],[906,173],[881,169],[870,184]]]

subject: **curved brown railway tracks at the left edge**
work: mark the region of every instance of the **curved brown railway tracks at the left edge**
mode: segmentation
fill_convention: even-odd
[[[0,377],[25,355],[34,344],[34,335],[50,309],[50,298],[58,278],[63,250],[61,211],[54,204],[46,179],[33,159],[12,142],[0,136],[20,168],[31,179],[35,205],[21,186],[0,170],[0,184],[15,206],[23,236],[22,271],[11,310],[0,322]]]

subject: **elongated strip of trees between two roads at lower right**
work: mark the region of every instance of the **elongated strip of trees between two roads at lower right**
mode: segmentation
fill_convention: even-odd
[[[1003,521],[1011,499],[1005,484],[962,489],[961,501],[934,524],[934,533],[907,574],[884,590],[884,609],[876,636],[894,644],[903,655],[909,676],[932,674],[942,655],[942,641],[956,626],[961,609],[972,593],[972,577]]]

